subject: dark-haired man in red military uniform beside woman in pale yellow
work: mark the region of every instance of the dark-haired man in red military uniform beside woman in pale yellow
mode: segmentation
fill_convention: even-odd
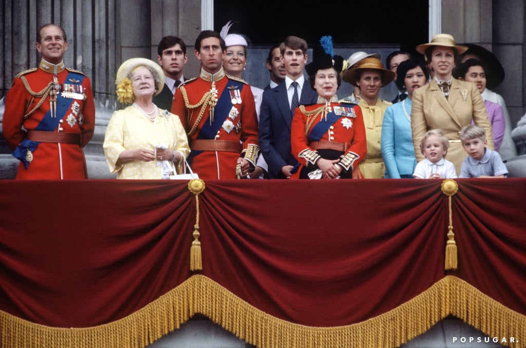
[[[177,89],[171,107],[188,134],[191,168],[202,179],[246,178],[259,153],[254,96],[244,80],[225,75],[224,51],[219,34],[199,34],[200,75]]]

